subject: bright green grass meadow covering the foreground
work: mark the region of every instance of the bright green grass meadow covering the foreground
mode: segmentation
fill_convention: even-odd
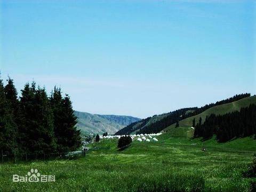
[[[202,142],[171,138],[168,132],[158,139],[134,141],[123,151],[116,140],[101,140],[74,160],[2,164],[0,191],[249,191],[252,179],[242,173],[252,162],[256,140]],[[56,181],[12,182],[12,174],[25,175],[31,168],[55,175]]]

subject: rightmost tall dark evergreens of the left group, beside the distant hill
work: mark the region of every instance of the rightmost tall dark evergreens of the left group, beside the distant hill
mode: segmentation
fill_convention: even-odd
[[[54,135],[59,153],[72,151],[81,146],[80,130],[76,128],[74,110],[68,95],[62,98],[60,88],[54,87],[51,94],[51,107],[54,119]]]

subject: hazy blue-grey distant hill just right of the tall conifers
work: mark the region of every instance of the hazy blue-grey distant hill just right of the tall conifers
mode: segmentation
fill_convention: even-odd
[[[114,134],[123,127],[140,121],[140,118],[121,115],[98,115],[75,111],[77,116],[77,127],[83,133]]]

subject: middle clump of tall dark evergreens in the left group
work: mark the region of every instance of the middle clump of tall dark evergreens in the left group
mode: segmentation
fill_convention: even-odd
[[[19,144],[26,153],[50,153],[55,150],[53,114],[45,89],[33,82],[21,90]]]

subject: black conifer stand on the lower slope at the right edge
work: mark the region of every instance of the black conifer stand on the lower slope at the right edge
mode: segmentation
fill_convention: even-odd
[[[247,137],[256,134],[256,105],[241,108],[225,115],[212,114],[195,127],[195,137],[211,138],[216,135],[219,142],[226,142],[234,138]]]

